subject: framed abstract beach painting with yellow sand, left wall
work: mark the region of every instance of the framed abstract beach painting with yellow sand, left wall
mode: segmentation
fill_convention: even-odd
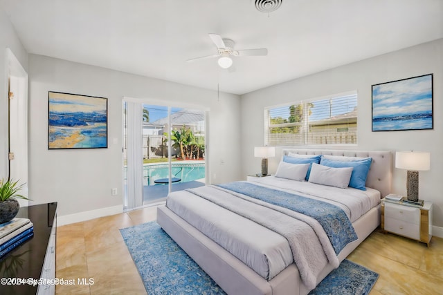
[[[107,148],[107,98],[48,93],[48,149]]]

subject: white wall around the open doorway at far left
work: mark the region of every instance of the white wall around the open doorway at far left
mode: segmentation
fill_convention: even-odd
[[[8,177],[8,65],[6,48],[10,48],[27,70],[28,53],[21,45],[6,13],[0,9],[0,179]]]

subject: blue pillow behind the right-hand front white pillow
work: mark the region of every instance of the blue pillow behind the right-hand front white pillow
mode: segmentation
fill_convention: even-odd
[[[368,172],[371,166],[371,162],[372,158],[366,158],[364,160],[356,161],[336,161],[321,158],[320,165],[334,168],[352,167],[353,169],[349,186],[365,191],[366,178],[368,178]]]

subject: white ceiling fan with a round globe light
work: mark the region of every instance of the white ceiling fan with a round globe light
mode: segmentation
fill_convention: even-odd
[[[220,35],[209,34],[211,40],[213,40],[215,46],[217,46],[217,53],[215,55],[207,55],[204,57],[197,57],[194,59],[188,59],[187,61],[196,61],[198,59],[208,59],[212,57],[219,57],[218,64],[221,68],[229,68],[233,64],[234,57],[246,57],[246,56],[263,56],[268,55],[268,50],[266,48],[256,48],[256,49],[234,49],[234,41],[231,39],[222,39]]]

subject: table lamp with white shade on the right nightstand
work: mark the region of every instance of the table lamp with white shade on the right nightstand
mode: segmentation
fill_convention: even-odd
[[[408,170],[406,189],[408,200],[418,202],[418,171],[431,169],[431,153],[421,151],[397,151],[395,168]]]

